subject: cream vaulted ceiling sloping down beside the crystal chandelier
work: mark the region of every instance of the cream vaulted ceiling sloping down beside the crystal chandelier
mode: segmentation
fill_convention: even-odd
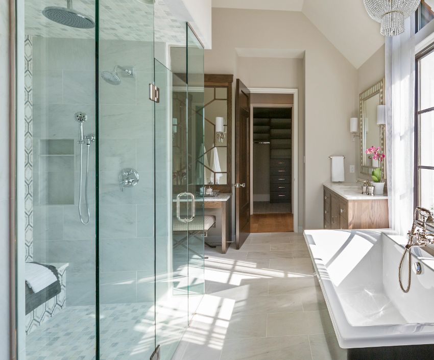
[[[300,11],[357,69],[384,44],[363,0],[212,0],[212,7]]]

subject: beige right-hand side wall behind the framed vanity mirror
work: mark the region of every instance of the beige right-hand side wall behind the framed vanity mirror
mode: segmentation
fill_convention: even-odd
[[[359,94],[375,83],[384,78],[385,74],[385,45],[381,46],[374,55],[372,55],[363,65],[357,70],[357,117]],[[349,121],[349,120],[348,120]],[[349,126],[349,125],[348,125]],[[367,174],[360,173],[360,138],[355,138],[354,154],[356,161],[356,174],[358,178],[369,178]]]

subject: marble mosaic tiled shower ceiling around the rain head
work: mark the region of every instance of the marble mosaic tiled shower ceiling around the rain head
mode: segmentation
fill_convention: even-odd
[[[41,11],[47,6],[66,7],[66,0],[27,1],[26,32],[33,36],[94,39],[95,29],[75,29],[45,18]],[[95,1],[73,3],[77,10],[95,19]],[[155,24],[154,24],[155,22]],[[141,24],[132,26],[131,24]],[[104,0],[100,2],[100,39],[166,42],[185,45],[185,21],[179,21],[163,0],[157,0],[154,11],[146,0]],[[155,33],[154,33],[155,28]]]

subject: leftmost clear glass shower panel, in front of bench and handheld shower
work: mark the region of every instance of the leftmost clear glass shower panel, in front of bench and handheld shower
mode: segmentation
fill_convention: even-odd
[[[75,28],[65,8],[17,3],[21,359],[95,355],[95,8],[75,2]]]

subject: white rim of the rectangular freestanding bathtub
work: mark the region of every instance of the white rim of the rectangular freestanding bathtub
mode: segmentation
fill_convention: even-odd
[[[341,306],[339,296],[330,279],[324,279],[327,270],[321,261],[316,261],[312,255],[310,242],[308,237],[314,241],[315,234],[329,232],[351,232],[358,235],[369,232],[372,236],[374,233],[377,241],[388,237],[391,241],[398,244],[404,250],[406,238],[399,236],[390,229],[354,229],[354,230],[305,230],[303,232],[307,248],[309,250],[310,259],[315,269],[316,277],[319,281],[321,291],[324,295],[327,310],[333,325],[333,329],[339,343],[339,346],[344,349],[348,348],[365,348],[365,347],[381,347],[381,346],[399,346],[399,345],[426,345],[434,343],[434,323],[409,323],[409,324],[393,324],[393,325],[351,325]],[[313,242],[315,244],[315,241]],[[428,252],[423,249],[418,249],[419,252],[413,253],[419,262],[425,266],[432,268],[432,265],[426,264],[421,256],[432,258]],[[322,266],[321,269],[318,266]],[[321,270],[321,271],[320,271]],[[333,305],[332,305],[333,303]]]

